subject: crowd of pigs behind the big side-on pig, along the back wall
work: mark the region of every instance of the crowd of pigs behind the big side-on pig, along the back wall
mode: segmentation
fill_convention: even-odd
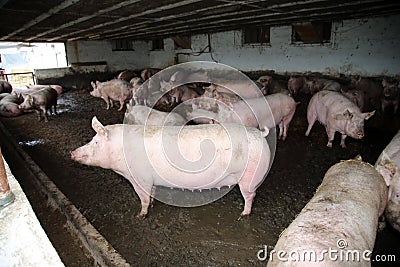
[[[254,83],[226,80],[222,86],[207,83],[206,71],[188,72],[182,69],[172,73],[163,71],[162,75],[153,76],[159,71],[144,69],[140,77],[133,71],[124,71],[111,81],[92,82],[94,90],[91,95],[103,98],[107,109],[113,105],[113,101],[119,101],[119,110],[122,110],[124,104],[131,99],[133,106],[144,105],[159,110],[165,110],[165,105],[174,107],[185,103],[192,110],[181,113],[180,116],[174,114],[174,117],[179,116],[176,121],[171,120],[170,113],[158,112],[157,115],[169,115],[167,123],[174,125],[183,123],[184,119],[198,124],[241,123],[260,130],[279,125],[279,139],[285,140],[296,110],[294,98],[299,93],[312,94],[307,109],[309,125],[306,136],[318,120],[326,127],[327,146],[332,147],[335,132],[339,132],[342,136],[340,145],[343,148],[346,147],[347,136],[356,139],[364,137],[364,120],[369,119],[376,111],[385,112],[389,106],[397,113],[399,101],[399,83],[387,79],[379,83],[360,77],[344,84],[323,78],[292,76],[285,81],[264,75],[253,81]],[[145,80],[148,82],[144,83]],[[252,86],[256,86],[258,90],[254,90]],[[265,111],[265,101],[272,114]],[[139,118],[149,114],[144,109],[129,108],[130,120],[127,122],[144,121],[144,118]],[[152,118],[154,117],[153,115]],[[146,120],[146,123],[153,124],[151,119]]]

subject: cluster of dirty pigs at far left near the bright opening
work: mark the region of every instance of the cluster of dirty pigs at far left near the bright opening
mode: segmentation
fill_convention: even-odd
[[[57,97],[62,93],[60,85],[28,85],[26,88],[13,88],[12,85],[0,80],[0,116],[16,117],[27,112],[36,111],[39,121],[47,113],[56,114]]]

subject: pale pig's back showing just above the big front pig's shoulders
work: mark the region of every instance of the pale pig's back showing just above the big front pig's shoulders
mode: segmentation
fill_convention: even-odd
[[[127,124],[160,126],[186,124],[186,120],[176,112],[162,112],[142,105],[128,106],[124,122]]]

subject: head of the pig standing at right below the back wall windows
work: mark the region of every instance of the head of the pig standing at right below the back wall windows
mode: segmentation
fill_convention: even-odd
[[[359,113],[347,109],[343,114],[338,114],[335,119],[344,124],[344,133],[355,139],[364,137],[364,120],[368,120],[375,114],[375,111]]]

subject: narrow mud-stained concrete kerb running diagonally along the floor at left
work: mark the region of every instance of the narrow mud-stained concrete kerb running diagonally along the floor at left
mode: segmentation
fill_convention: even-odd
[[[47,195],[49,204],[59,209],[67,219],[71,233],[77,236],[99,266],[130,266],[110,243],[90,224],[74,204],[57,188],[31,157],[18,146],[8,130],[0,122],[0,131],[6,137],[4,146],[20,157],[36,178],[35,183]],[[55,266],[55,265],[54,265]]]

